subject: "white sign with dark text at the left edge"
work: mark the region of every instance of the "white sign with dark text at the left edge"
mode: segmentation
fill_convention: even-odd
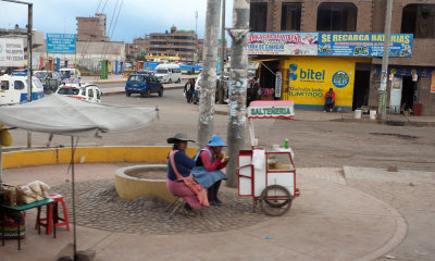
[[[24,66],[23,39],[0,38],[0,66]]]

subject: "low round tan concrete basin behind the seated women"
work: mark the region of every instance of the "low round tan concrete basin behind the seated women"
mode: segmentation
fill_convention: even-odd
[[[174,196],[166,188],[166,165],[149,164],[121,167],[115,171],[115,188],[123,199],[154,196],[172,201]]]

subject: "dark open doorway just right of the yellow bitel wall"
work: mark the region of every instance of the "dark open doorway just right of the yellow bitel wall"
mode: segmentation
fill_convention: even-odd
[[[352,110],[369,104],[370,71],[355,71]]]

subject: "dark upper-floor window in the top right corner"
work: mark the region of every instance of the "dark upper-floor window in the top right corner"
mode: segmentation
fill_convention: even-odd
[[[400,33],[414,34],[414,38],[435,38],[435,4],[405,7]]]

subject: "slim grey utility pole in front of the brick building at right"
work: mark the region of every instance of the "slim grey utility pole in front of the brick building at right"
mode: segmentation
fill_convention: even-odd
[[[377,102],[377,120],[385,121],[386,114],[386,96],[387,96],[387,79],[388,79],[388,54],[389,54],[389,36],[391,28],[391,12],[393,0],[387,0],[387,10],[385,17],[385,38],[384,38],[384,53],[382,57],[382,72],[380,85],[380,99]]]

